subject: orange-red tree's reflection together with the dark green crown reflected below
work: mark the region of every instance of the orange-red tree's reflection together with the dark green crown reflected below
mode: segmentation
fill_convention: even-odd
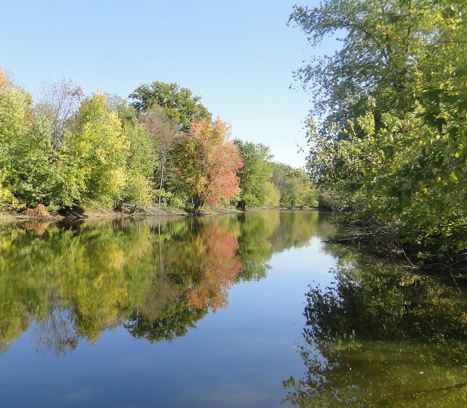
[[[195,328],[209,308],[227,306],[227,291],[241,271],[236,238],[214,220],[193,218],[186,225],[153,252],[160,268],[153,291],[124,324],[134,337],[171,341]]]

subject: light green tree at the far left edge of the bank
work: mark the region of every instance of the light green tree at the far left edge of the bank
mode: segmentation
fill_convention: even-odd
[[[51,204],[60,169],[46,119],[32,98],[0,69],[0,207]]]

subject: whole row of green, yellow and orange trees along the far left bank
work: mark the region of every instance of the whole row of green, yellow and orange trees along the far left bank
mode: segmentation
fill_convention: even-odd
[[[84,95],[72,80],[38,97],[0,68],[0,209],[170,205],[199,210],[315,205],[303,170],[233,139],[199,96],[155,81],[128,99]]]

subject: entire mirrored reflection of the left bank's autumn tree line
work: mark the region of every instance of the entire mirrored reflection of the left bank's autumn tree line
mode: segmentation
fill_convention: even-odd
[[[332,233],[324,219],[258,211],[0,225],[0,347],[31,322],[38,348],[58,355],[124,321],[151,341],[184,335],[227,306],[235,282],[265,277],[274,252]]]

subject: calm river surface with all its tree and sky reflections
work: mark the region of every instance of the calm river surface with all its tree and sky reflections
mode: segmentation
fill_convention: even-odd
[[[466,290],[329,214],[0,226],[5,407],[457,407]]]

